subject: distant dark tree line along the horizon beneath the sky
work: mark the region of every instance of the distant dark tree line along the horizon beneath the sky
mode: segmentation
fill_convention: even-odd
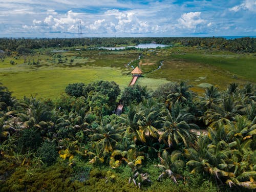
[[[93,37],[93,38],[0,38],[0,50],[30,53],[40,48],[71,48],[83,46],[115,47],[155,41],[157,44],[201,47],[232,52],[256,52],[255,38],[225,39],[222,37]]]

